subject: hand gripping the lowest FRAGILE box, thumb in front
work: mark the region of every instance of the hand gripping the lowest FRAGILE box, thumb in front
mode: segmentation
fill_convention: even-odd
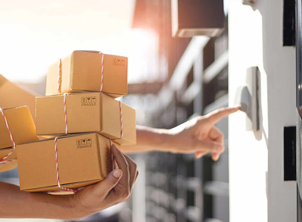
[[[128,200],[138,177],[136,163],[127,155],[111,146],[119,169],[113,170],[105,179],[95,185],[70,195],[76,218],[83,218],[108,207]]]

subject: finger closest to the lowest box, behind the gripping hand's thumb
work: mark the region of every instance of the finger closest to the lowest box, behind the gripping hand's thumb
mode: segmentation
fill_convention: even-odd
[[[122,177],[119,180],[120,186],[116,187],[121,192],[129,192],[129,164],[125,156],[119,151],[119,149],[113,144],[111,146],[111,153],[113,154],[118,168],[122,171]]]

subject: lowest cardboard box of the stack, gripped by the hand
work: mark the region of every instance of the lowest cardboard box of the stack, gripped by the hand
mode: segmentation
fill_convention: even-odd
[[[16,153],[21,190],[61,190],[57,185],[54,138],[19,145]],[[98,183],[113,169],[110,141],[98,133],[59,137],[57,153],[63,187],[79,188]]]

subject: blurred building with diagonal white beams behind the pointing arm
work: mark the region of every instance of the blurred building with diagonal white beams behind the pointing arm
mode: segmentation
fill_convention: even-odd
[[[173,38],[171,0],[137,0],[132,28],[151,30],[158,36],[159,67],[151,67],[150,73],[157,69],[166,76],[129,85],[123,101],[137,109],[138,124],[173,128],[228,105],[227,19],[220,37]],[[150,152],[136,156],[145,160],[146,171],[140,176],[146,179],[133,193],[133,222],[229,221],[227,119],[217,126],[226,136],[226,151],[218,162],[211,156],[195,160],[193,154]],[[145,197],[141,198],[145,212],[135,209],[144,205],[134,201],[135,195]]]

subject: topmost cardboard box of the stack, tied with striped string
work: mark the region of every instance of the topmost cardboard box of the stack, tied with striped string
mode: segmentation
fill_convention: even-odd
[[[98,51],[74,51],[62,59],[60,93],[59,61],[48,68],[46,96],[70,92],[101,90],[102,54]],[[103,92],[117,98],[127,94],[128,58],[104,54]]]

